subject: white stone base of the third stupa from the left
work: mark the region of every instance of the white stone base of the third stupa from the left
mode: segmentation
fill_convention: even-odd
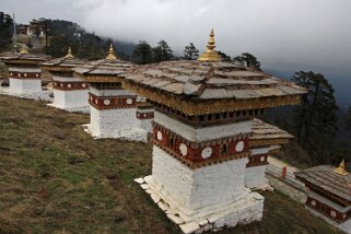
[[[95,128],[92,128],[91,124],[86,124],[82,126],[84,128],[84,131],[91,134],[94,139],[113,138],[113,139],[128,140],[128,141],[148,142],[148,132],[139,128],[116,130],[108,134],[104,134],[104,133],[95,132]]]

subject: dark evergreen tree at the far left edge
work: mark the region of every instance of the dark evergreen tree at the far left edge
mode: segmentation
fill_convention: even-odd
[[[0,12],[0,51],[5,50],[12,42],[13,20],[9,14]]]

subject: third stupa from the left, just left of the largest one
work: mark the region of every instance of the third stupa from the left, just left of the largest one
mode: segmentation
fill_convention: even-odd
[[[142,129],[140,124],[151,122],[150,116],[143,116],[143,114],[152,112],[153,107],[145,105],[145,108],[140,108],[139,113],[142,116],[138,118],[137,95],[124,90],[119,78],[132,68],[132,63],[117,59],[110,45],[106,59],[73,69],[77,78],[90,84],[91,121],[84,128],[94,138],[147,141],[148,131]]]

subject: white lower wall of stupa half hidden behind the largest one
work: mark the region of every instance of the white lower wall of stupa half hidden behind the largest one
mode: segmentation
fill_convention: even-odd
[[[245,186],[250,189],[262,189],[269,187],[266,178],[267,165],[250,166],[245,171]]]

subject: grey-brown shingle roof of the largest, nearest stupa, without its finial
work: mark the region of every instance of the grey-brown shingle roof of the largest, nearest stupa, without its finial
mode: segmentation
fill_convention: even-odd
[[[292,82],[227,62],[165,61],[140,66],[122,77],[136,84],[192,100],[251,100],[306,93]]]

